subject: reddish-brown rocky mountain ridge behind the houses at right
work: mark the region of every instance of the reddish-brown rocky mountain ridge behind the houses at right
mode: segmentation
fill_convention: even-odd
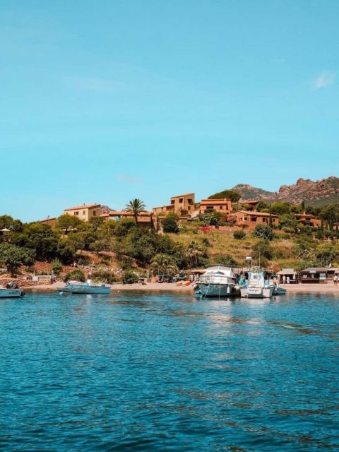
[[[298,179],[296,184],[283,185],[277,192],[258,189],[251,185],[239,184],[232,188],[242,196],[242,201],[285,201],[299,204],[305,201],[314,206],[339,203],[339,177],[327,177],[319,181]]]

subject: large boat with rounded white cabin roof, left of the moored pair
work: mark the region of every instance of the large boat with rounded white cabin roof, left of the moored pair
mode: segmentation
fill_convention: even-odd
[[[196,295],[205,297],[238,297],[240,288],[231,267],[208,267],[196,282]]]

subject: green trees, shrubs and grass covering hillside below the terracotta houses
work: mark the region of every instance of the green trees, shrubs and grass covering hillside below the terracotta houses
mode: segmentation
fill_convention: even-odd
[[[136,200],[133,200],[136,201]],[[137,200],[138,201],[138,200]],[[140,203],[134,203],[141,208]],[[0,264],[11,275],[40,263],[54,275],[63,275],[64,266],[93,268],[93,279],[109,283],[116,279],[135,280],[137,273],[150,270],[153,274],[173,274],[186,268],[205,267],[215,263],[245,265],[252,256],[264,266],[306,268],[309,266],[339,266],[339,206],[312,208],[322,227],[299,225],[295,212],[304,206],[262,202],[258,208],[279,215],[279,227],[257,225],[255,230],[223,228],[224,219],[215,211],[204,213],[194,222],[177,225],[177,215],[164,218],[165,234],[138,225],[129,218],[116,222],[95,218],[82,222],[72,215],[61,215],[57,228],[33,222],[23,223],[9,215],[0,216]],[[305,210],[309,210],[305,207]],[[303,211],[303,210],[302,210]],[[230,225],[230,223],[228,223]],[[215,228],[213,227],[215,226]],[[232,225],[231,225],[232,226]],[[21,268],[23,267],[23,268]],[[119,270],[119,271],[118,271]],[[71,278],[85,278],[88,268]],[[78,275],[78,276],[77,276]],[[132,276],[133,275],[133,276]],[[69,276],[68,276],[69,277]]]

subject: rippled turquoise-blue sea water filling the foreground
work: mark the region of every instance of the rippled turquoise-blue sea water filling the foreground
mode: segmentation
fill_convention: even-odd
[[[0,450],[339,450],[339,296],[0,300]]]

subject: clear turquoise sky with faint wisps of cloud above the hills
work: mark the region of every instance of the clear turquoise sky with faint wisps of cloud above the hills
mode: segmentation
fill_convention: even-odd
[[[338,176],[339,1],[1,0],[0,215]]]

